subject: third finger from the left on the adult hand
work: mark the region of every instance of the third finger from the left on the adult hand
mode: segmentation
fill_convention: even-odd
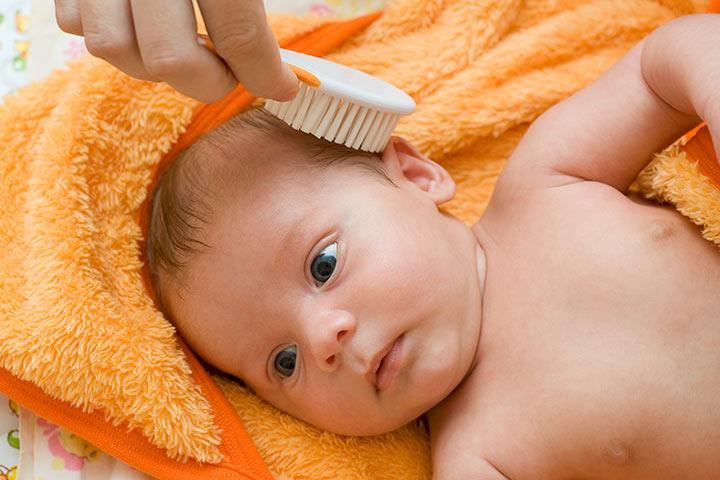
[[[131,0],[145,69],[203,102],[224,97],[237,79],[220,57],[201,47],[190,0]]]

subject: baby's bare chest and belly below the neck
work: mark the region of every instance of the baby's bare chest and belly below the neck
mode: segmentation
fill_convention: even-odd
[[[511,478],[720,478],[720,253],[623,207],[488,254],[487,355],[444,408]]]

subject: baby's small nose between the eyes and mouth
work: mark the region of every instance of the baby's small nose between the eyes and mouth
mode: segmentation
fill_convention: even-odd
[[[309,326],[310,349],[318,368],[325,372],[336,370],[348,339],[357,328],[357,321],[346,310],[332,310]]]

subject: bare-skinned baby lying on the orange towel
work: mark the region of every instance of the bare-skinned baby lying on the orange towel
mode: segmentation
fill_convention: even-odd
[[[627,196],[653,152],[720,140],[720,16],[673,21],[528,130],[471,228],[454,183],[239,115],[155,192],[163,308],[300,419],[427,413],[436,479],[720,478],[720,253]]]

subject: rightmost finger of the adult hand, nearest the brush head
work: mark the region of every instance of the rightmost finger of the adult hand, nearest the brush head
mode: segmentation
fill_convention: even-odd
[[[289,100],[297,77],[280,61],[280,51],[262,0],[199,0],[218,54],[254,95]]]

